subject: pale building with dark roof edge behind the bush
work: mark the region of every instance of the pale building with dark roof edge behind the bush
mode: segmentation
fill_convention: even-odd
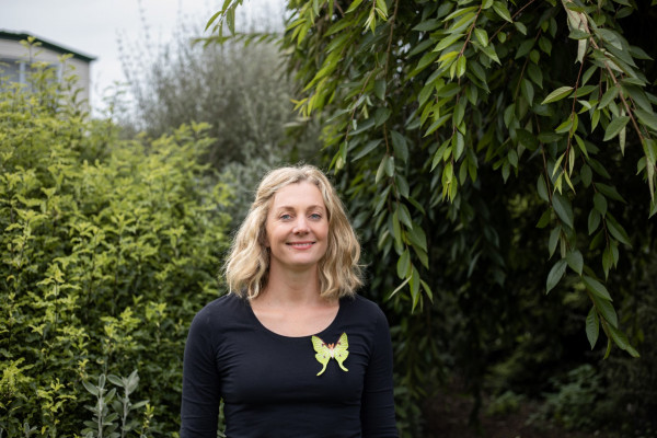
[[[57,69],[57,78],[61,80],[70,66],[74,68],[74,74],[79,78],[77,84],[82,89],[80,97],[89,103],[91,62],[95,60],[95,57],[72,50],[35,35],[32,35],[36,38],[35,43],[38,42],[41,45],[30,50],[21,44],[21,41],[27,41],[30,36],[28,33],[24,32],[16,33],[0,30],[0,69],[3,71],[2,76],[8,77],[12,82],[25,83],[31,62],[44,61]],[[66,54],[70,54],[72,57],[66,60],[65,67],[59,58]]]

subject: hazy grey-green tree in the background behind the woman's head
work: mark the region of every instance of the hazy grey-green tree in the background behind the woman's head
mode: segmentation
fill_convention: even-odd
[[[245,26],[276,28],[267,11],[256,16]],[[297,129],[296,137],[286,135],[290,126],[310,124],[293,112],[293,84],[279,47],[268,41],[203,45],[195,43],[200,33],[192,23],[181,23],[172,41],[155,47],[145,26],[142,38],[122,42],[134,100],[122,125],[128,132],[157,138],[182,124],[207,123],[214,141],[204,161],[222,172],[221,181],[231,182],[231,216],[239,223],[268,169],[315,154],[318,129],[311,125]]]

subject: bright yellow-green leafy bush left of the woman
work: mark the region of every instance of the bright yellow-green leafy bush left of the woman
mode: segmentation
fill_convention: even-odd
[[[150,407],[125,424],[171,436],[186,327],[219,293],[230,220],[198,160],[208,127],[119,141],[50,74],[0,90],[0,436],[81,435],[96,402],[83,382],[134,370]]]

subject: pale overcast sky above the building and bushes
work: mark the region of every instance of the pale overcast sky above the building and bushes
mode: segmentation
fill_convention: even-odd
[[[204,27],[223,0],[0,0],[0,30],[33,34],[96,58],[92,64],[92,105],[104,90],[125,81],[118,41],[143,35],[142,16],[157,45],[173,38],[181,23]],[[281,13],[281,0],[244,0],[243,14]],[[140,13],[140,8],[143,14]]]

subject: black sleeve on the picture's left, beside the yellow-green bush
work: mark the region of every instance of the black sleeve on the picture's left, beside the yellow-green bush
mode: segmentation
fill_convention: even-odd
[[[217,438],[221,391],[209,313],[194,318],[185,344],[181,438]]]

